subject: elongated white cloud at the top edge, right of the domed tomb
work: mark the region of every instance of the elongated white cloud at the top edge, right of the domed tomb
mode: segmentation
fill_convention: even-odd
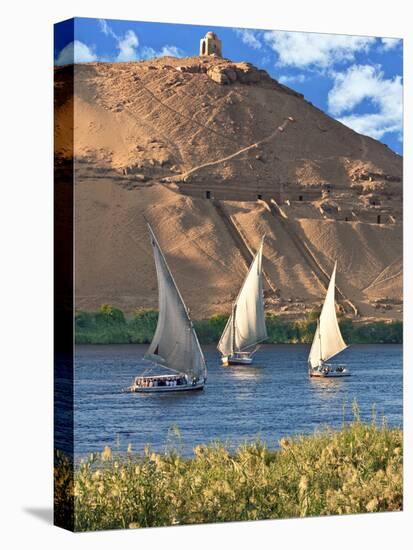
[[[368,51],[376,41],[368,36],[285,31],[267,31],[264,40],[277,52],[279,65],[322,69],[352,61],[356,52]]]

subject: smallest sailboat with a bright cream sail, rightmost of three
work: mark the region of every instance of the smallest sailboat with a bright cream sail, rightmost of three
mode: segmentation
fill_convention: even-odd
[[[327,363],[329,359],[341,353],[348,346],[341,336],[337,321],[335,305],[337,262],[334,264],[328,285],[326,298],[317,320],[317,329],[308,356],[308,371],[310,376],[339,378],[350,376],[350,372],[344,365],[332,365]]]

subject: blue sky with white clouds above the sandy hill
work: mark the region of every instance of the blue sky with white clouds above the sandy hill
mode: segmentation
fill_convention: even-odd
[[[357,132],[402,154],[403,43],[394,38],[76,18],[55,26],[55,63],[199,54],[214,31],[223,56],[249,61]]]

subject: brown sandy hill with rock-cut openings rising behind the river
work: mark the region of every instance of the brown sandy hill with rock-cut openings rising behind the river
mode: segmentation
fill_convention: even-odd
[[[193,316],[228,312],[265,232],[269,310],[320,304],[338,260],[348,313],[401,318],[402,159],[248,63],[56,69],[59,165],[73,156],[76,305],[157,306],[145,219]]]

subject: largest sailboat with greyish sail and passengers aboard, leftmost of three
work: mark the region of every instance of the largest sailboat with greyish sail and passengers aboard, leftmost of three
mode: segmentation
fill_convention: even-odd
[[[149,224],[148,228],[158,279],[159,317],[144,359],[167,373],[138,376],[128,391],[152,393],[202,390],[207,378],[204,354],[162,249]]]

